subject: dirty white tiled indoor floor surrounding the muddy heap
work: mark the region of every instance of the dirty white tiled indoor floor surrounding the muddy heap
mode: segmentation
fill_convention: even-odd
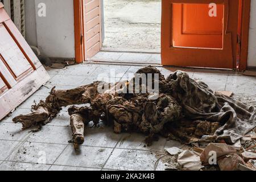
[[[33,102],[43,100],[52,86],[70,89],[89,84],[100,73],[105,73],[114,80],[123,80],[141,67],[81,64],[61,70],[48,69],[51,80],[20,105],[10,117],[0,122],[0,170],[154,170],[156,152],[165,147],[181,147],[181,144],[160,138],[153,146],[146,147],[141,134],[118,135],[107,126],[87,127],[85,143],[80,152],[75,152],[68,143],[72,133],[67,109],[63,109],[38,133],[22,131],[20,124],[11,121],[16,115],[28,113]],[[158,68],[164,76],[178,69]],[[213,90],[232,91],[235,93],[234,97],[256,106],[256,77],[241,76],[232,71],[181,70],[187,71],[196,80],[205,81]],[[159,163],[156,169],[163,170],[164,165]]]

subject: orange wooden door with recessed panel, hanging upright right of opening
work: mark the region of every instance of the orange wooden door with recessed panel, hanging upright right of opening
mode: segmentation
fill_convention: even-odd
[[[238,1],[162,1],[162,64],[235,68]]]

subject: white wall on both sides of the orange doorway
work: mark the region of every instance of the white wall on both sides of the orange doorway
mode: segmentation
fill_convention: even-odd
[[[36,15],[46,3],[46,17]],[[75,57],[73,0],[26,0],[26,39],[49,57]],[[256,67],[256,0],[251,1],[248,66]]]

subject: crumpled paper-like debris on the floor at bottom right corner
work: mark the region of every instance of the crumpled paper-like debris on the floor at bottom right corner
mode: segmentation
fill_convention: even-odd
[[[243,148],[225,143],[209,143],[205,148],[194,146],[186,150],[171,147],[166,148],[163,156],[163,159],[162,156],[159,159],[166,163],[167,169],[171,167],[172,170],[256,171],[255,145]]]

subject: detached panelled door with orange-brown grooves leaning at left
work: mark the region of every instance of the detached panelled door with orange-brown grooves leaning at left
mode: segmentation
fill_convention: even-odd
[[[49,80],[0,3],[0,120]]]

